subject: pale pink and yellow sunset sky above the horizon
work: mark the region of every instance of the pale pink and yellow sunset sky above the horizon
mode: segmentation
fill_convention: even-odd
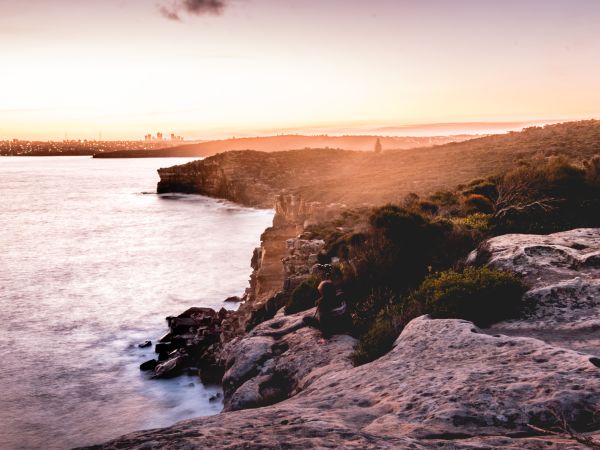
[[[0,139],[594,117],[598,0],[0,0]]]

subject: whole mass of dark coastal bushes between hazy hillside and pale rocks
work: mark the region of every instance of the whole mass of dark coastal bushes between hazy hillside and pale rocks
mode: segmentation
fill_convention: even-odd
[[[503,175],[426,198],[351,210],[311,230],[326,241],[321,263],[335,262],[363,364],[387,352],[421,314],[486,327],[515,317],[525,292],[514,274],[464,266],[468,253],[505,233],[551,233],[600,226],[600,156],[584,161],[539,154]],[[303,288],[304,289],[304,288]],[[295,304],[304,305],[301,292]],[[295,308],[292,306],[291,308]]]

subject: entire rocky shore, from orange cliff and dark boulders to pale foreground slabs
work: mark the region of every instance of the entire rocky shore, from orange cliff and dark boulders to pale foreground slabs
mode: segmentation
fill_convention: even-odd
[[[354,338],[321,345],[303,321],[314,309],[282,311],[318,270],[324,242],[306,226],[345,205],[275,198],[239,309],[191,308],[168,318],[157,344],[154,376],[220,382],[224,411],[93,448],[575,449],[598,439],[600,229],[487,240],[467,263],[520,273],[526,316],[487,329],[421,316],[388,354],[353,367]],[[573,428],[553,431],[561,420]]]

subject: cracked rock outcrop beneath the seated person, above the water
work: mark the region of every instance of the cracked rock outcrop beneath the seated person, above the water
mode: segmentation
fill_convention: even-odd
[[[223,351],[225,410],[270,405],[306,389],[320,373],[351,367],[348,355],[356,340],[334,336],[322,345],[320,332],[303,323],[304,316],[282,312],[229,342]]]

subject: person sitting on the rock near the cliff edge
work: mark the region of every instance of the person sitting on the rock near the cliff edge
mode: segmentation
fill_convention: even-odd
[[[304,323],[321,330],[325,339],[329,339],[334,334],[348,332],[350,329],[348,308],[333,283],[330,280],[321,281],[317,289],[320,294],[316,301],[317,311],[313,317],[305,317]]]

